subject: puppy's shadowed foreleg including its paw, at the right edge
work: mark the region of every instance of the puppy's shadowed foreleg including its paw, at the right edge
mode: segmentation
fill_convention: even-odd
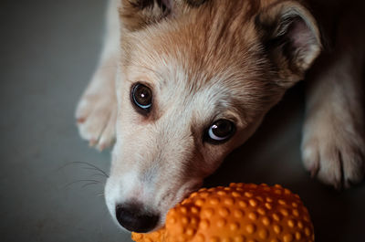
[[[319,59],[308,80],[302,156],[326,184],[349,187],[365,173],[364,63],[361,22],[347,16],[334,51]]]

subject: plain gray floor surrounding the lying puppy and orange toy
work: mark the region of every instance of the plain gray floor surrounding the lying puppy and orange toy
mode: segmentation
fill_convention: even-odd
[[[82,164],[108,171],[110,153],[89,149],[73,119],[98,58],[105,5],[0,2],[0,241],[130,241],[111,222],[103,178]],[[300,163],[302,103],[299,85],[207,185],[284,184],[308,205],[317,241],[365,241],[365,185],[334,191]],[[88,179],[100,184],[77,182]]]

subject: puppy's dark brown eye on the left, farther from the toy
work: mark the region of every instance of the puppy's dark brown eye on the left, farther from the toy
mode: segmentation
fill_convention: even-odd
[[[131,100],[141,110],[149,111],[152,106],[152,91],[149,87],[137,83],[132,87]]]

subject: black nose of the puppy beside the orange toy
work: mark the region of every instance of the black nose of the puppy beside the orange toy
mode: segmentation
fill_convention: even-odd
[[[160,216],[146,212],[141,205],[117,205],[115,209],[120,226],[137,233],[150,232],[159,222]]]

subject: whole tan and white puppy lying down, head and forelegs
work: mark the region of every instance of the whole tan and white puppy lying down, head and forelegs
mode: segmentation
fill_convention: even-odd
[[[146,233],[201,186],[298,81],[302,156],[325,184],[364,176],[363,1],[110,0],[83,139],[114,144],[106,204]],[[115,143],[114,143],[115,142]]]

